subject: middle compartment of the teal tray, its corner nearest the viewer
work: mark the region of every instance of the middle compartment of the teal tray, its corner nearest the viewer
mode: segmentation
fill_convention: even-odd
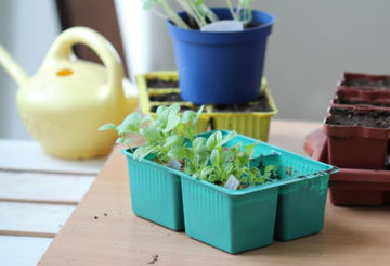
[[[181,178],[186,235],[233,254],[273,242],[276,183],[233,191]]]

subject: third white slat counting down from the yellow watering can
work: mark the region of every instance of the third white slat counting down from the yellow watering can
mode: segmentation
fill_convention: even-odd
[[[0,202],[0,235],[54,236],[75,208],[75,205]]]

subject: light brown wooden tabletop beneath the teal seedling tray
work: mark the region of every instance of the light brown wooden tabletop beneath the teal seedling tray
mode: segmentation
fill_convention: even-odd
[[[270,142],[303,153],[318,123],[272,123]],[[390,265],[390,208],[327,203],[322,233],[231,255],[134,216],[116,149],[39,265]],[[153,259],[153,258],[156,259]]]

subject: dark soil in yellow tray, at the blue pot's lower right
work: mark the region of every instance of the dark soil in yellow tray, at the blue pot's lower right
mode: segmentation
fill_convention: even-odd
[[[236,105],[214,105],[213,112],[221,113],[250,113],[250,112],[271,112],[272,107],[270,106],[266,97],[261,93],[259,97],[247,104],[236,104]]]

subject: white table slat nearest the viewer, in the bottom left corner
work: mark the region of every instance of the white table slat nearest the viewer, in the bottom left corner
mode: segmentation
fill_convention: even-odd
[[[0,236],[0,265],[37,265],[51,238]]]

